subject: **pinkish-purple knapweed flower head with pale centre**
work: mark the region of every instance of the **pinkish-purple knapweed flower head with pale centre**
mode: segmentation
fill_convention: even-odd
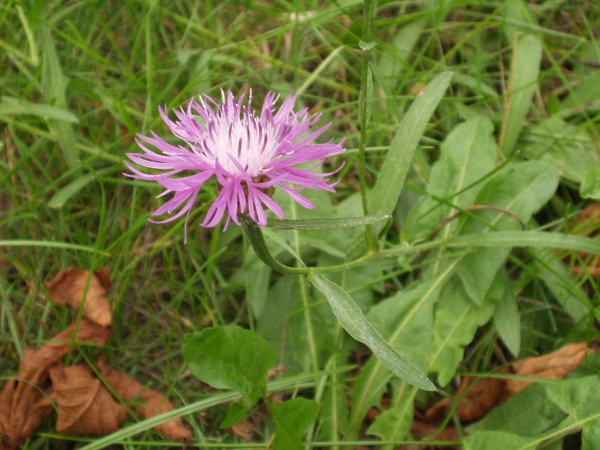
[[[299,194],[302,189],[323,189],[334,192],[329,177],[337,172],[315,171],[325,158],[344,151],[342,143],[329,141],[312,144],[331,123],[309,133],[320,115],[308,115],[308,108],[294,112],[296,95],[289,95],[276,111],[277,95],[269,92],[262,111],[251,108],[252,93],[247,104],[244,96],[236,100],[233,94],[221,92],[222,104],[207,95],[192,100],[187,108],[174,110],[176,121],[169,119],[166,110],[159,113],[171,132],[185,145],[172,145],[152,132],[152,136],[138,135],[136,140],[143,153],[128,153],[135,164],[162,171],[144,173],[125,163],[132,178],[156,181],[165,188],[160,196],[172,197],[152,213],[174,215],[170,222],[182,215],[187,217],[194,207],[200,188],[211,178],[217,182],[217,197],[212,203],[203,227],[214,227],[227,215],[240,224],[238,214],[246,213],[263,227],[267,223],[265,208],[283,219],[283,210],[271,198],[275,188],[283,189],[305,208],[313,204]],[[146,146],[150,144],[158,151]],[[315,161],[309,168],[298,167]],[[338,169],[339,170],[339,169]],[[187,232],[186,232],[187,235]]]

